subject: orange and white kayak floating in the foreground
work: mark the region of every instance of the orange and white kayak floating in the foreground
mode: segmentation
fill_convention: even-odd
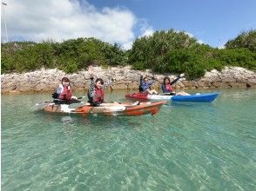
[[[68,113],[80,115],[113,115],[113,116],[137,116],[151,114],[155,115],[164,102],[134,102],[134,103],[102,103],[98,107],[87,103],[73,108],[76,104],[55,104],[47,103],[43,111],[52,113]]]

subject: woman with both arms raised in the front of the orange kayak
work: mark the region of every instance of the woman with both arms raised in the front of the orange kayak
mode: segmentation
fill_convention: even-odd
[[[91,83],[88,89],[88,102],[91,103],[92,106],[99,106],[104,102],[104,89],[111,85],[111,82],[115,80],[115,78],[110,79],[108,82],[103,81],[101,78],[97,78],[94,82],[93,77],[93,69],[89,67],[88,69],[89,75],[91,76]]]

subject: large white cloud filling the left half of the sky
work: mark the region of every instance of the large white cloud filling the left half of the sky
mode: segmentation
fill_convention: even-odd
[[[96,37],[109,43],[134,40],[136,16],[124,8],[98,10],[90,3],[69,0],[5,0],[9,39],[57,42],[77,37]],[[3,16],[2,16],[3,18]],[[2,38],[5,39],[3,21]]]

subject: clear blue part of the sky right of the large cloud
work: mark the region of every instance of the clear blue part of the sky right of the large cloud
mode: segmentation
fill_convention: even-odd
[[[243,30],[256,29],[256,0],[89,0],[98,9],[125,7],[153,30],[185,30],[221,46]],[[139,31],[135,29],[138,36]]]

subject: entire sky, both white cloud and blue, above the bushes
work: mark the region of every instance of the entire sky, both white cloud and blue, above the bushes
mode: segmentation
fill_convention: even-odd
[[[243,30],[256,30],[256,0],[3,0],[1,40],[63,42],[96,37],[130,49],[139,36],[183,30],[223,47]],[[3,9],[5,16],[3,16]],[[5,34],[4,19],[8,30]]]

